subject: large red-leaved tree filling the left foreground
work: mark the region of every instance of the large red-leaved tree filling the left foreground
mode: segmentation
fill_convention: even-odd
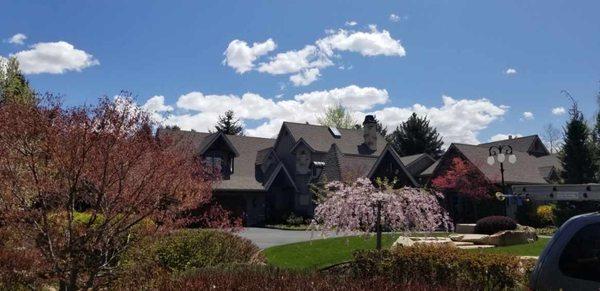
[[[146,235],[195,219],[223,226],[222,213],[185,215],[216,213],[202,163],[157,139],[148,114],[124,100],[0,107],[0,233],[11,235],[0,257],[37,254],[27,278],[97,288]]]

